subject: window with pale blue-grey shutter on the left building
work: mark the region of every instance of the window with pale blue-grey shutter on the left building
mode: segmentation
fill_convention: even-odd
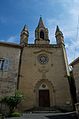
[[[9,60],[7,58],[0,58],[0,70],[7,71],[9,67]]]

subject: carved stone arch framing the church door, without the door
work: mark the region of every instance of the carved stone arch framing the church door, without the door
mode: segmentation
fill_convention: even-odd
[[[51,81],[48,79],[41,79],[38,81],[35,85],[34,92],[35,92],[35,105],[36,107],[39,107],[39,87],[41,84],[45,84],[48,87],[49,95],[50,95],[50,106],[55,106],[55,89]]]

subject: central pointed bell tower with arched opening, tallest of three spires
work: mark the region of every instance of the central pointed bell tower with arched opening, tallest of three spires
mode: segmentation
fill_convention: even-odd
[[[35,30],[35,44],[49,44],[48,29],[44,26],[42,17],[39,19],[38,26]]]

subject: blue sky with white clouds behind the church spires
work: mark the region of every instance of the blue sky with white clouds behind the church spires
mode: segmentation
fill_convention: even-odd
[[[63,32],[68,62],[79,57],[79,0],[0,0],[0,41],[19,43],[26,24],[29,43],[34,43],[40,16],[51,44],[57,25]]]

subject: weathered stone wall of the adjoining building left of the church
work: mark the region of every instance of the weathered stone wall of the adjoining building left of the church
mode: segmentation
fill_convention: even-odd
[[[20,48],[0,46],[0,59],[4,59],[5,66],[0,69],[0,97],[12,95],[17,86]],[[6,62],[5,62],[6,60]],[[1,62],[0,62],[1,63]]]

